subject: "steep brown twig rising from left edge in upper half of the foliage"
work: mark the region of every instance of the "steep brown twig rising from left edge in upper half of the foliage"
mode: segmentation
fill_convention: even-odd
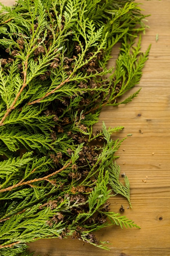
[[[20,91],[18,92],[17,96],[15,97],[13,103],[11,104],[10,108],[7,108],[7,112],[5,113],[5,115],[2,117],[1,121],[0,121],[0,126],[3,126],[3,121],[7,118],[7,116],[9,115],[9,113],[15,109],[15,103],[17,102],[18,98],[20,97],[20,94],[22,93],[22,91],[24,90],[24,88],[26,87],[26,74],[27,74],[27,68],[28,68],[28,59],[29,59],[29,54],[26,56],[26,61],[24,61],[24,65],[25,65],[25,70],[23,72],[24,74],[24,80],[23,80],[23,84],[22,87],[20,89]]]

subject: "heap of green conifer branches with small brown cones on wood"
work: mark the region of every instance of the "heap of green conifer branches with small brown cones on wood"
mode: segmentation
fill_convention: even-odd
[[[114,133],[123,127],[103,123],[93,132],[93,124],[103,106],[139,93],[119,101],[148,58],[138,36],[145,16],[132,0],[1,6],[0,255],[30,255],[26,243],[66,236],[108,249],[94,231],[138,226],[108,209],[113,191],[130,204],[128,178],[119,181],[115,164],[123,140]],[[117,42],[116,66],[108,69]]]

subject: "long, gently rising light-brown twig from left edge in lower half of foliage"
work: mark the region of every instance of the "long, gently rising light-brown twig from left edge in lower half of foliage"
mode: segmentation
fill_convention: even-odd
[[[61,171],[63,171],[64,169],[66,169],[70,164],[72,163],[72,161],[70,161],[68,164],[66,164],[65,166],[63,166],[61,169],[45,176],[45,177],[42,177],[42,178],[35,178],[33,180],[28,180],[28,181],[25,181],[23,182],[23,180],[21,180],[20,182],[18,182],[17,184],[13,185],[13,186],[9,186],[8,188],[6,189],[0,189],[0,193],[2,192],[6,192],[6,191],[11,191],[12,189],[15,189],[17,188],[18,186],[24,186],[24,185],[30,185],[31,183],[33,182],[39,182],[39,181],[42,181],[42,180],[47,180],[49,177],[52,177],[54,176],[55,174],[57,173],[60,173]]]

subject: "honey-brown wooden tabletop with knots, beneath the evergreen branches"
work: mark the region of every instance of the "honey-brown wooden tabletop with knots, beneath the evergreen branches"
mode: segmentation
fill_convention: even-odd
[[[14,1],[1,1],[12,4]],[[148,17],[150,29],[142,39],[142,49],[152,43],[142,88],[131,103],[104,108],[95,129],[124,126],[119,138],[132,134],[117,155],[121,172],[130,180],[132,209],[121,196],[112,198],[111,210],[124,215],[141,229],[109,227],[98,238],[110,241],[110,251],[98,249],[79,240],[44,239],[30,244],[34,256],[168,256],[170,255],[170,0],[139,0]],[[156,42],[156,34],[159,40]],[[113,60],[116,56],[113,49]]]

